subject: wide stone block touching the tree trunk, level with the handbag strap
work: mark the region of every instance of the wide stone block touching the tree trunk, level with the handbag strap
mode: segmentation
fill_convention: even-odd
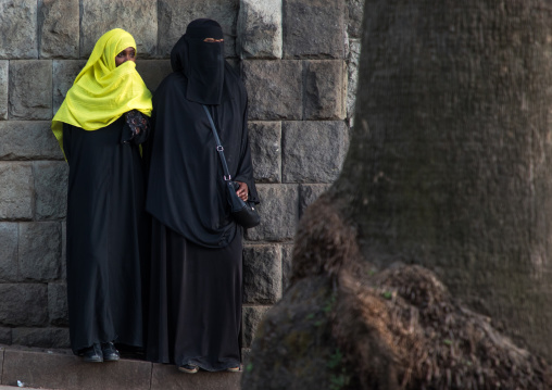
[[[349,147],[343,122],[285,122],[281,138],[284,183],[337,178]]]

